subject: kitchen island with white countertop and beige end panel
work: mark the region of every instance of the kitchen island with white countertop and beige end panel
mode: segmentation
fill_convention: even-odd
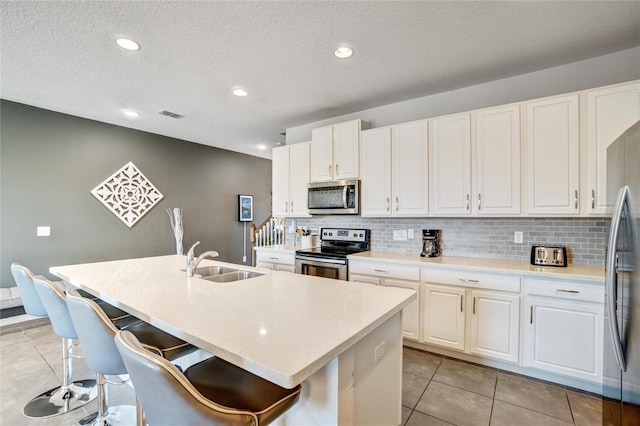
[[[401,420],[402,309],[415,292],[205,260],[264,275],[187,278],[178,255],[56,266],[50,272],[203,350],[291,388],[276,424]]]

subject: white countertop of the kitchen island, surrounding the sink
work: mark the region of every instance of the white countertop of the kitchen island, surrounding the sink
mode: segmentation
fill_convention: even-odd
[[[50,272],[280,386],[291,388],[415,300],[412,290],[267,271],[231,283],[186,278],[178,255]]]

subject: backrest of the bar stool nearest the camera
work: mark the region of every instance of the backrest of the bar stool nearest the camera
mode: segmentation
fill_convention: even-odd
[[[205,398],[173,364],[122,330],[115,343],[150,425],[257,425],[249,411],[226,408]]]

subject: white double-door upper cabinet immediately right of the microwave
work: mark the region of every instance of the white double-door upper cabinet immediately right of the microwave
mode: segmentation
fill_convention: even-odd
[[[362,132],[362,216],[426,216],[426,120]]]

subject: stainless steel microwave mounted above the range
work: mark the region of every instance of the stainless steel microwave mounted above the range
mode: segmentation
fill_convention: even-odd
[[[310,183],[308,202],[310,214],[359,214],[360,181]]]

